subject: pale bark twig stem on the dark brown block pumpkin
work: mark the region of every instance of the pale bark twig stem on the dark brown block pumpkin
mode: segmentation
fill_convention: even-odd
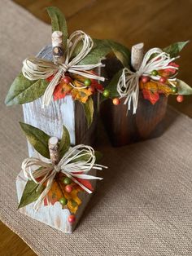
[[[132,46],[131,49],[131,65],[135,71],[137,71],[142,64],[143,59],[143,42],[137,43],[137,45]]]

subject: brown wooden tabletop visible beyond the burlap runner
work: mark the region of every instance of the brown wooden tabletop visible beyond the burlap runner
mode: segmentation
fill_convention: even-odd
[[[168,46],[172,42],[191,39],[191,0],[15,0],[32,12],[37,18],[50,23],[45,7],[57,6],[68,19],[69,31],[83,29],[94,38],[111,38],[126,46],[144,42],[150,47]],[[179,76],[192,85],[192,46],[181,53]],[[182,113],[192,117],[192,97],[186,96],[182,104],[177,104],[174,96],[172,104]],[[0,254],[3,256],[36,255],[28,245],[4,224],[0,223]]]

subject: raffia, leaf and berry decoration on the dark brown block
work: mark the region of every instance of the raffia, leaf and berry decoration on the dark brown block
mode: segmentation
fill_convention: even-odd
[[[179,65],[175,60],[180,57],[178,53],[187,42],[174,43],[164,50],[152,48],[147,51],[136,71],[130,67],[120,70],[103,91],[103,96],[114,98],[114,104],[120,104],[120,99],[124,98],[128,110],[133,105],[133,114],[137,111],[140,90],[143,97],[149,99],[151,104],[155,104],[159,94],[166,96],[176,94],[177,101],[181,102],[182,95],[192,94],[192,88],[176,78]],[[138,45],[143,46],[143,44]]]

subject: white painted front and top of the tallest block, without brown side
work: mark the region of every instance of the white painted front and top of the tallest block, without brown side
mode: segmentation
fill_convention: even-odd
[[[52,60],[52,46],[46,46],[37,55],[40,58]],[[44,130],[50,136],[62,136],[63,125],[67,127],[71,143],[75,145],[75,102],[72,96],[54,101],[49,106],[41,108],[41,98],[28,104],[23,104],[24,122]],[[29,157],[33,155],[34,149],[28,143]]]

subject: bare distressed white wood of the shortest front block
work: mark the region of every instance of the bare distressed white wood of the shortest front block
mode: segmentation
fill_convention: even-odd
[[[46,158],[43,157],[43,159],[46,161]],[[90,174],[96,176],[97,172],[96,170],[91,170]],[[26,183],[27,179],[24,177],[23,171],[21,170],[20,174],[18,174],[16,178],[18,203],[20,202]],[[93,188],[95,188],[96,180],[91,180],[91,183]],[[41,205],[37,211],[33,210],[34,203],[32,203],[20,208],[20,213],[26,214],[28,217],[34,218],[41,223],[49,225],[50,227],[59,229],[62,232],[72,233],[91,198],[91,194],[84,191],[79,192],[78,196],[81,198],[82,203],[76,212],[76,223],[73,224],[68,222],[68,216],[71,215],[70,211],[68,209],[62,209],[59,202],[56,202],[55,205]]]

